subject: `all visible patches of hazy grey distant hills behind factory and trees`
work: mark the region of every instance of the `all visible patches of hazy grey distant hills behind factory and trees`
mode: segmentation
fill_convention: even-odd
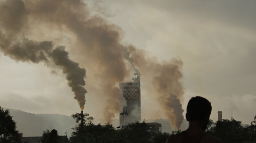
[[[10,109],[13,119],[17,123],[17,130],[23,133],[23,136],[41,136],[46,129],[57,129],[59,135],[64,135],[67,132],[69,137],[72,133],[72,127],[75,126],[75,121],[71,116],[63,114],[35,114],[18,109]],[[147,119],[146,122],[158,122],[162,125],[162,132],[172,133],[172,128],[167,119]],[[96,118],[94,123],[104,125],[104,120]],[[119,120],[114,119],[112,124],[119,126]],[[185,119],[181,125],[181,129],[185,130],[188,127],[188,121]]]

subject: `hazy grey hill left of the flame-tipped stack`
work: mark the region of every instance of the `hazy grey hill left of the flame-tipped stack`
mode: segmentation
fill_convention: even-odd
[[[17,109],[10,109],[10,114],[23,136],[41,136],[46,129],[57,129],[59,135],[67,132],[67,136],[70,136],[71,128],[75,126],[71,116],[62,114],[35,114]]]

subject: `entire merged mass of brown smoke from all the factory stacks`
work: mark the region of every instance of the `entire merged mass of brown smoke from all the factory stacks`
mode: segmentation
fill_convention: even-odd
[[[86,70],[79,64],[86,67],[90,71],[87,80],[92,82],[88,86],[97,89],[97,93],[90,90],[90,94],[98,96],[98,104],[105,105],[103,117],[106,122],[111,122],[125,105],[118,83],[135,71],[143,75],[143,80],[152,83],[152,87],[158,87],[155,94],[158,101],[162,102],[162,97],[166,99],[162,108],[169,120],[175,120],[172,124],[179,126],[183,112],[179,103],[184,94],[179,81],[181,59],[158,63],[133,45],[122,44],[122,29],[99,15],[92,15],[82,0],[2,0],[0,17],[3,17],[0,19],[0,47],[4,54],[17,61],[43,61],[49,67],[60,66],[80,106],[84,105],[87,91],[83,88]],[[53,48],[51,41],[56,42],[40,29],[42,26],[71,35],[72,46],[67,49],[79,64],[68,58],[63,46]],[[31,35],[35,30],[41,33],[40,36]]]

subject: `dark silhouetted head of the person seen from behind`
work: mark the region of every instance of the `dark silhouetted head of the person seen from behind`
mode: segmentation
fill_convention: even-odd
[[[211,103],[201,96],[192,97],[187,106],[188,121],[208,120],[212,111]]]

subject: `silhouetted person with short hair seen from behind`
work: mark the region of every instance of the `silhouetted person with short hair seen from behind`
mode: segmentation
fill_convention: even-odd
[[[169,136],[166,143],[222,142],[219,138],[204,132],[209,122],[211,111],[211,103],[206,98],[200,96],[192,97],[189,100],[186,113],[186,119],[189,121],[188,129],[181,133]]]

